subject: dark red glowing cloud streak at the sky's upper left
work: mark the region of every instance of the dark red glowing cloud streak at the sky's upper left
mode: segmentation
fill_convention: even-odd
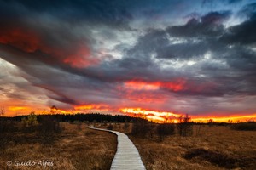
[[[32,29],[10,27],[0,30],[0,43],[19,48],[26,53],[40,51],[73,67],[86,67],[99,63],[98,59],[91,57],[90,48],[84,41],[68,42],[70,44],[65,44],[65,46],[56,43],[53,46],[52,42],[47,42],[43,35]]]

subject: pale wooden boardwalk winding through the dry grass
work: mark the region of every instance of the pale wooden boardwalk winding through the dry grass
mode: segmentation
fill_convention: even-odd
[[[89,127],[95,130],[102,130],[115,133],[118,136],[118,146],[112,161],[111,170],[145,170],[141,156],[137,148],[124,133],[105,130],[101,128]]]

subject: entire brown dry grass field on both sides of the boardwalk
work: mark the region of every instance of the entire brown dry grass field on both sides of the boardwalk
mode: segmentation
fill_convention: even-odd
[[[92,123],[128,134],[148,170],[254,170],[256,132],[236,131],[225,126],[194,125],[193,135],[178,134],[164,139],[151,124],[144,138],[131,134],[132,123]],[[84,123],[61,123],[55,142],[44,144],[37,133],[19,131],[0,153],[0,169],[109,169],[117,140],[112,133],[86,128]],[[152,133],[154,132],[154,133]],[[7,166],[12,161],[12,166]],[[53,166],[15,166],[15,161],[48,161]]]

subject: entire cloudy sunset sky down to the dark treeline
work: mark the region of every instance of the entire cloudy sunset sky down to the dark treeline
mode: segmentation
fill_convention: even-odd
[[[0,107],[256,119],[256,1],[0,0]]]

